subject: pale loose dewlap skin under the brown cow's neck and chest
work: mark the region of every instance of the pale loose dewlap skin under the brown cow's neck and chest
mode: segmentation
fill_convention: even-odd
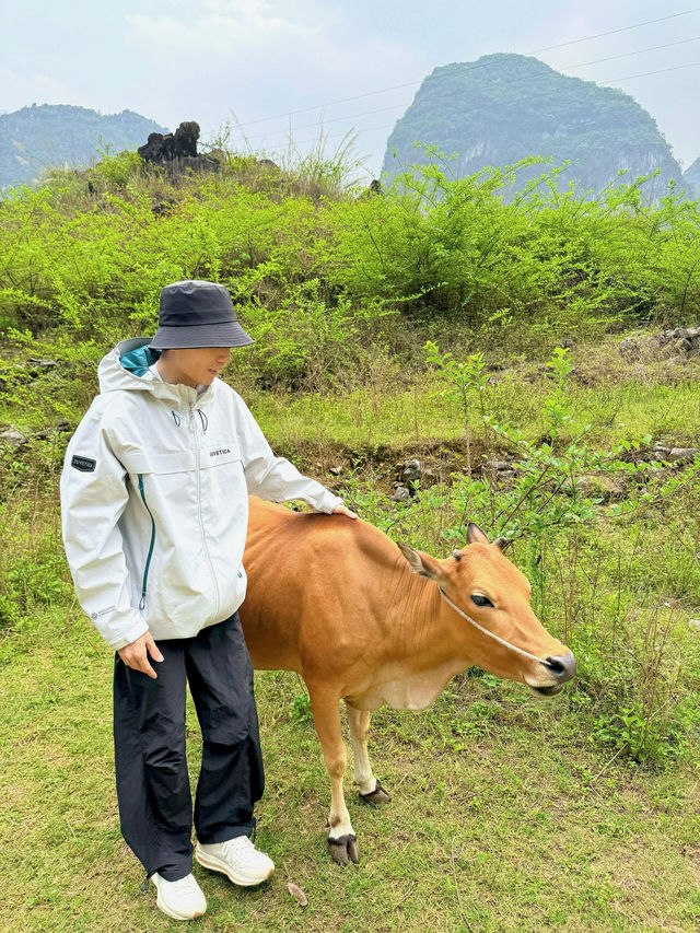
[[[415,673],[402,665],[387,665],[376,673],[371,685],[345,699],[357,710],[378,710],[385,705],[394,710],[424,710],[442,693],[445,685],[468,666],[462,658],[451,658],[439,667]]]

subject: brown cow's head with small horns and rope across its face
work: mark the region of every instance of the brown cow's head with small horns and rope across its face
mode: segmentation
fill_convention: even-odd
[[[504,544],[501,538],[490,544],[470,522],[467,547],[446,560],[398,547],[411,570],[433,580],[446,597],[441,597],[441,618],[456,652],[497,677],[552,696],[574,676],[576,662],[533,613],[530,585],[503,553]]]

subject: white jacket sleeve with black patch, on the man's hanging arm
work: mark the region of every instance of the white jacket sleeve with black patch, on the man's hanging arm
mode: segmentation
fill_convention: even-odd
[[[129,494],[126,470],[105,431],[102,406],[78,425],[60,480],[61,528],[78,602],[115,651],[148,630],[131,605],[119,516]]]

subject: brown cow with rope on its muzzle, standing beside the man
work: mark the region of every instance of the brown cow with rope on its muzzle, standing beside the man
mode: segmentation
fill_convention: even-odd
[[[468,546],[446,560],[360,518],[296,513],[249,498],[241,620],[255,667],[299,672],[308,688],[330,774],[328,844],[358,861],[342,793],[345,700],[354,780],[370,803],[390,800],[372,773],[370,711],[429,707],[447,681],[477,664],[552,695],[574,675],[573,654],[529,606],[527,579],[474,523]]]

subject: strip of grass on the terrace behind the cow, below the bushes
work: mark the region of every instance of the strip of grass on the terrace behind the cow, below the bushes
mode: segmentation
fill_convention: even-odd
[[[700,443],[700,360],[682,368],[655,362],[634,371],[617,354],[617,341],[572,353],[576,369],[568,386],[574,412],[571,433],[591,424],[588,442],[599,448],[648,433],[678,446]],[[551,388],[542,369],[509,365],[492,376],[486,393],[487,410],[517,425],[528,439],[541,432],[542,401]],[[271,440],[317,442],[323,451],[329,443],[366,448],[464,438],[462,411],[440,395],[446,386],[443,378],[428,375],[409,386],[396,378],[342,394],[243,392]],[[469,423],[479,438],[477,406],[472,394]]]

